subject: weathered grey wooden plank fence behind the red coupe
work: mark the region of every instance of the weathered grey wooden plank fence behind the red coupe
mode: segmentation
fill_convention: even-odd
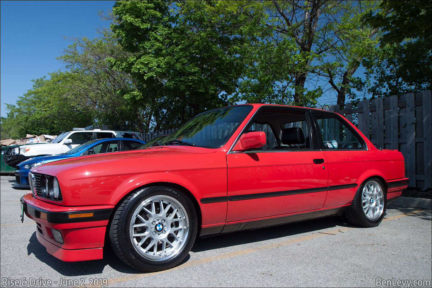
[[[406,176],[410,187],[432,188],[432,101],[431,91],[409,93],[359,102],[353,108],[346,103],[345,110],[339,105],[318,107],[342,114],[353,122],[375,147],[396,149],[405,158]],[[143,134],[149,141],[168,135],[175,129],[153,131]]]

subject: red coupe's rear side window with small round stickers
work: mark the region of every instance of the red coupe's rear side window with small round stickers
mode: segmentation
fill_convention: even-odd
[[[323,149],[326,150],[359,150],[366,149],[365,142],[340,119],[333,115],[314,112],[318,129],[321,132]]]

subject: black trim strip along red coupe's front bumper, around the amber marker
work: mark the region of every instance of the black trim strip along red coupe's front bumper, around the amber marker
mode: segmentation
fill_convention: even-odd
[[[47,214],[47,222],[49,223],[77,223],[77,222],[89,222],[89,221],[103,221],[108,220],[114,209],[93,209],[93,210],[81,210],[81,211],[62,211],[62,212],[51,212],[41,208],[37,208],[33,205],[28,204],[21,198],[24,202],[25,213],[31,215],[33,218],[41,219],[41,212]],[[93,213],[92,217],[82,217],[82,218],[69,218],[70,214],[79,213]]]

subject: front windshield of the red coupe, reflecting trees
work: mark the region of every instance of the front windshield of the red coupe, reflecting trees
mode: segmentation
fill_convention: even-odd
[[[169,145],[221,147],[228,141],[252,106],[232,106],[201,113],[162,140]]]

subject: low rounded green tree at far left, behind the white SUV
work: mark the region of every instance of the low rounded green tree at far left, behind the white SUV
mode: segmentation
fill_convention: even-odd
[[[33,80],[32,89],[20,96],[15,105],[7,105],[7,117],[1,119],[2,137],[22,138],[27,133],[59,134],[93,123],[92,111],[81,109],[79,102],[65,96],[69,84],[76,81],[76,75],[54,72],[49,76],[49,79]]]

